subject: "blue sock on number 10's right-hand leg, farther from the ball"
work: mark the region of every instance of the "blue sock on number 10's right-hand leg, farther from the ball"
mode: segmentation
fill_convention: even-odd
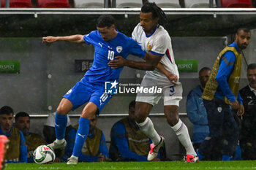
[[[84,142],[86,142],[86,138],[89,134],[90,120],[80,117],[78,132],[75,136],[75,145],[73,149],[72,155],[79,156],[82,150]]]

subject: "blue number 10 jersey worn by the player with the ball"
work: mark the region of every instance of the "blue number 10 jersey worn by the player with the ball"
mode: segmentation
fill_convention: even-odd
[[[82,82],[102,84],[106,81],[118,80],[123,67],[111,69],[108,62],[115,60],[116,55],[127,58],[129,54],[143,58],[143,51],[135,40],[118,31],[117,36],[108,42],[102,39],[99,31],[91,31],[83,36],[87,45],[94,45],[94,62],[83,77]]]

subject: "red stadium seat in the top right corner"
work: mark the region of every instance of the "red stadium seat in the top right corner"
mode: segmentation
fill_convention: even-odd
[[[222,0],[221,6],[224,8],[253,8],[252,0]]]

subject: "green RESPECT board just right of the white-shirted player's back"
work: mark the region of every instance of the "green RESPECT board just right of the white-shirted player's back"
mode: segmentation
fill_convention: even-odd
[[[197,72],[197,60],[176,60],[178,72]]]

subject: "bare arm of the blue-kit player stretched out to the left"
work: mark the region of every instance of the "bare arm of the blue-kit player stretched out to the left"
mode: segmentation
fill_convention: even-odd
[[[83,35],[72,35],[72,36],[44,36],[42,37],[42,43],[44,42],[56,42],[56,41],[67,41],[81,43],[84,42]]]

